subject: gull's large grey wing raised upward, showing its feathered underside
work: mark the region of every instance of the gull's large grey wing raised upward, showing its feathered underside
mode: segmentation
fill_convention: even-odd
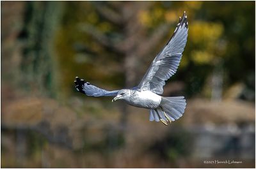
[[[163,50],[156,56],[142,78],[138,88],[141,90],[149,90],[156,94],[163,94],[163,86],[165,80],[172,77],[182,57],[182,52],[186,46],[188,38],[188,21],[184,11],[179,24]]]

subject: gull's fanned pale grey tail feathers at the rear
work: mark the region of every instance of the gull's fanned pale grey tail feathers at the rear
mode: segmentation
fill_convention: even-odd
[[[186,99],[184,96],[162,97],[159,107],[150,110],[150,121],[161,121],[167,125],[182,117],[186,108]]]

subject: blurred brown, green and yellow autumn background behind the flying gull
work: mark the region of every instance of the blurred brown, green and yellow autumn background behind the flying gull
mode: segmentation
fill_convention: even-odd
[[[138,85],[183,11],[179,121],[75,91]],[[255,2],[1,1],[1,167],[254,168]]]

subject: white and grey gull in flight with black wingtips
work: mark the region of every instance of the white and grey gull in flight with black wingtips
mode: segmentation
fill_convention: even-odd
[[[184,11],[183,16],[179,17],[179,23],[172,37],[152,61],[137,87],[106,91],[76,77],[75,88],[87,96],[115,96],[112,102],[122,99],[134,107],[150,109],[149,121],[161,121],[168,126],[168,122],[171,123],[182,117],[186,108],[184,96],[163,97],[161,94],[165,81],[177,71],[187,38],[188,21]]]

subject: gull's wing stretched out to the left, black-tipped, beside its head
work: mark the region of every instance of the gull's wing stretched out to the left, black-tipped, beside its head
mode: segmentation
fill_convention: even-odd
[[[76,77],[75,82],[75,88],[79,92],[83,92],[83,94],[86,94],[87,96],[94,96],[94,97],[100,97],[100,96],[116,96],[118,91],[106,91],[104,89],[100,89],[99,87],[96,87],[95,85],[91,85],[89,82],[85,82],[83,79]]]

